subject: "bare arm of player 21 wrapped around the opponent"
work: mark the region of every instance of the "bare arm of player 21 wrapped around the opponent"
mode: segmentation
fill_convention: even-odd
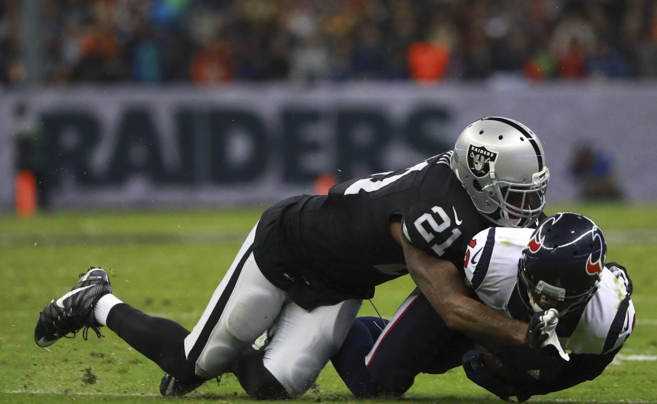
[[[390,232],[403,248],[413,281],[449,328],[506,345],[526,343],[527,323],[504,317],[495,309],[469,298],[453,263],[432,257],[404,242],[398,221],[390,223]]]

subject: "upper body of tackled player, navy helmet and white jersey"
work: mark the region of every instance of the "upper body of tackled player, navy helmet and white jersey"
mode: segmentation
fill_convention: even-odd
[[[599,376],[636,323],[627,271],[605,259],[602,231],[578,213],[557,213],[533,232],[493,227],[474,236],[464,267],[476,296],[516,319],[556,310],[562,352],[484,344],[463,356],[468,378],[524,401]]]

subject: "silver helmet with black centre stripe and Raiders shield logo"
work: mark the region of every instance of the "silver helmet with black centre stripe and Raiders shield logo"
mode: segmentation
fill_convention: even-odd
[[[543,145],[520,122],[491,116],[470,123],[456,141],[451,168],[495,225],[527,227],[545,206],[550,171]]]

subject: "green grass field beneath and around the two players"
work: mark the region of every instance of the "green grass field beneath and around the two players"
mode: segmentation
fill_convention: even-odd
[[[552,208],[556,212],[566,207]],[[657,403],[657,206],[568,206],[602,227],[608,258],[624,263],[635,284],[637,326],[618,363],[596,380],[533,402]],[[104,329],[105,338],[62,340],[48,349],[34,344],[43,305],[67,292],[88,265],[110,269],[118,297],[147,313],[191,328],[258,209],[203,212],[62,213],[20,220],[0,215],[0,402],[164,402],[162,370]],[[390,317],[413,290],[409,277],[380,286],[374,304]],[[374,315],[369,302],[361,313]],[[93,334],[93,333],[92,333]],[[412,343],[412,342],[409,342]],[[356,401],[330,365],[319,390],[304,401]],[[208,382],[183,401],[244,401],[231,374],[221,385]],[[179,401],[179,400],[178,400]],[[496,403],[470,383],[461,369],[420,375],[401,400],[427,403]],[[366,401],[368,402],[368,401]]]

